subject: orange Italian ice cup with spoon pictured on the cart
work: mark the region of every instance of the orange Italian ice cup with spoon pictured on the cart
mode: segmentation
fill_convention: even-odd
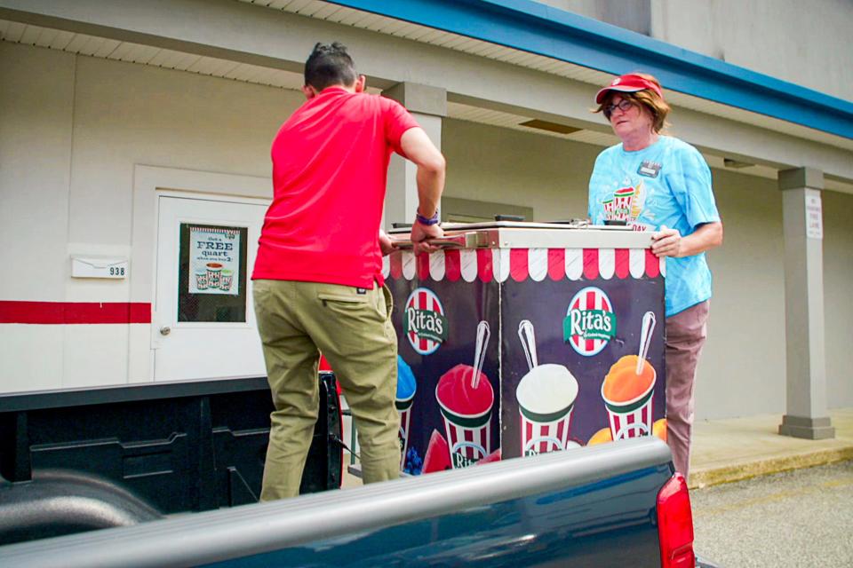
[[[646,312],[642,317],[639,354],[620,358],[604,377],[602,398],[614,440],[650,436],[652,433],[652,395],[658,372],[646,360],[646,354],[654,328],[655,314]]]

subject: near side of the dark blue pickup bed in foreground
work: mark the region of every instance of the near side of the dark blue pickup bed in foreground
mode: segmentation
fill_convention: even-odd
[[[639,438],[14,544],[0,564],[658,567],[671,479],[666,445]]]

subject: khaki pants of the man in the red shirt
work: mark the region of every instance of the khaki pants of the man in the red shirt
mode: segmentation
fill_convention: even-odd
[[[275,405],[261,501],[299,494],[318,414],[319,351],[352,409],[364,483],[399,477],[397,339],[388,289],[359,294],[336,284],[255,280],[254,297]]]

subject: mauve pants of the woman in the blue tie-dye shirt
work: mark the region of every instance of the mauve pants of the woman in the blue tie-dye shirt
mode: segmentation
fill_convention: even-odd
[[[666,443],[675,470],[684,477],[690,469],[693,435],[693,387],[699,354],[707,337],[710,302],[696,304],[666,318]]]

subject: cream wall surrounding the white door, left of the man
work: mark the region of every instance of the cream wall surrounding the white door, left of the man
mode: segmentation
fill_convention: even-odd
[[[0,280],[2,300],[140,301],[131,279],[70,278],[72,254],[132,256],[134,166],[269,177],[270,140],[301,101],[295,91],[9,43],[0,43],[0,76],[0,239],[15,243],[3,259],[19,275]],[[0,390],[139,380],[129,351],[147,327],[0,325]]]

